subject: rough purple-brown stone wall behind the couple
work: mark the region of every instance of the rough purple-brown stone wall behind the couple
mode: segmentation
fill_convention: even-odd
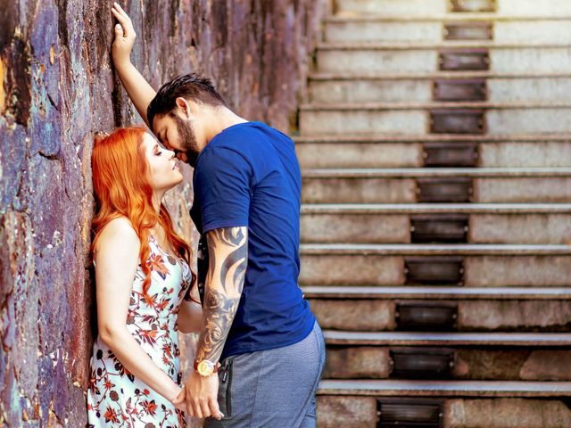
[[[133,61],[154,87],[201,70],[238,114],[290,131],[326,3],[121,2],[137,30]],[[111,4],[0,0],[1,426],[86,422],[91,144],[97,130],[140,121],[110,63]],[[170,206],[190,236],[187,183]]]

